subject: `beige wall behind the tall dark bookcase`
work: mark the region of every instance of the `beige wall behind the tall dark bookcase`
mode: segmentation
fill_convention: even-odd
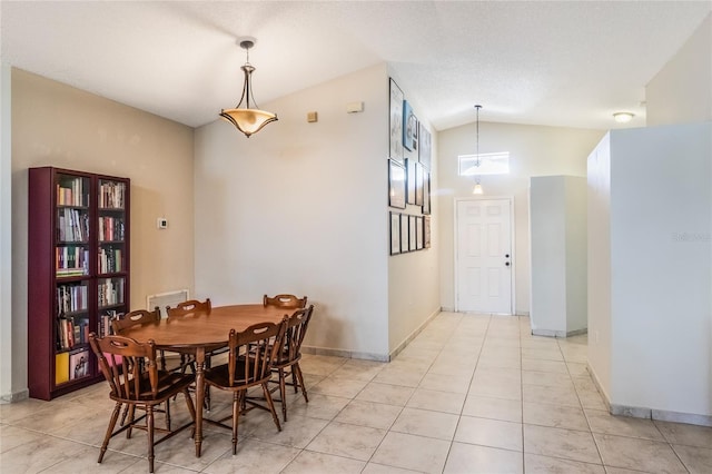
[[[13,69],[11,79],[16,354],[27,353],[30,167],[130,178],[131,308],[144,308],[149,294],[192,290],[192,129],[22,70]],[[167,230],[157,229],[157,217],[169,219]],[[13,367],[13,381],[26,381],[26,372],[22,357]]]

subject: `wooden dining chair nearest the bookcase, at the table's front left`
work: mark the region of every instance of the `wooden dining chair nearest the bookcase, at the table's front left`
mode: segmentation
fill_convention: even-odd
[[[109,383],[111,391],[109,397],[116,402],[109,426],[107,427],[98,463],[101,463],[109,446],[109,441],[122,433],[127,438],[131,437],[131,429],[144,429],[148,435],[148,465],[154,472],[154,446],[176,435],[182,429],[194,425],[196,409],[188,387],[195,382],[192,374],[159,371],[156,361],[156,346],[152,340],[139,343],[123,336],[97,337],[95,333],[89,335],[89,345],[99,361],[99,368]],[[180,394],[186,398],[186,405],[191,421],[177,429],[157,428],[154,422],[156,405],[167,403],[174,395]],[[121,412],[121,406],[129,406],[129,419],[119,429],[115,431],[116,422]],[[140,407],[146,413],[136,418],[135,408]],[[144,424],[140,422],[145,421]],[[155,432],[165,433],[159,440],[155,440]]]

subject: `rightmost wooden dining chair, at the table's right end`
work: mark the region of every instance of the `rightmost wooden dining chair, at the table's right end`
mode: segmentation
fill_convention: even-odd
[[[301,359],[301,342],[307,333],[307,326],[309,325],[313,313],[314,305],[309,305],[308,308],[297,309],[289,316],[285,332],[285,343],[281,346],[281,350],[277,354],[276,359],[273,362],[273,372],[276,372],[278,375],[276,382],[279,386],[273,388],[271,392],[279,389],[281,416],[285,422],[287,421],[287,385],[294,386],[294,393],[297,393],[300,388],[304,401],[309,403],[299,361]],[[287,384],[287,377],[289,376],[291,376],[291,383]]]

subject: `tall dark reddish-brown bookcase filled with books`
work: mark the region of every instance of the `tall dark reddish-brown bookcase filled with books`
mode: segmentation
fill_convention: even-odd
[[[130,180],[29,170],[28,386],[52,399],[103,377],[89,333],[129,310]]]

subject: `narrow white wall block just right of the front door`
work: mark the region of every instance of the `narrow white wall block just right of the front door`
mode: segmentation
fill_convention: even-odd
[[[586,328],[586,180],[531,179],[531,324],[565,337]]]

